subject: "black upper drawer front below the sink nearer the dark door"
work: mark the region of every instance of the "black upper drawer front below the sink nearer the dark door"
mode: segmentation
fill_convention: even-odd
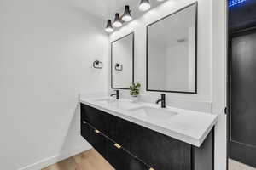
[[[190,170],[191,145],[117,117],[115,139],[150,167]],[[122,143],[120,143],[122,144]]]

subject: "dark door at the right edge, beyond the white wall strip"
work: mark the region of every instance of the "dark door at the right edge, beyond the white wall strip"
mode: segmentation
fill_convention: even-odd
[[[256,29],[230,37],[230,158],[256,167]]]

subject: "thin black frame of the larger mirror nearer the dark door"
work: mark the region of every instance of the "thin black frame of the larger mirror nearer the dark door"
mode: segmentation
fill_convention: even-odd
[[[153,26],[154,24],[158,23],[161,20],[165,20],[166,18],[172,16],[173,14],[177,14],[178,12],[189,8],[191,6],[195,5],[195,90],[194,91],[169,91],[169,90],[154,90],[148,88],[148,27]],[[197,26],[198,25],[198,3],[191,3],[183,8],[178,9],[172,14],[168,14],[165,17],[161,18],[160,20],[156,20],[153,23],[150,23],[147,25],[147,36],[146,36],[146,91],[152,91],[152,92],[166,92],[166,93],[179,93],[179,94],[197,94]]]

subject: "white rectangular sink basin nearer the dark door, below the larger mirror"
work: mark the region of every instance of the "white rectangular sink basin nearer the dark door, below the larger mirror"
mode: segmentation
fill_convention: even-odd
[[[154,108],[143,106],[136,109],[131,109],[131,114],[137,116],[138,118],[148,118],[153,120],[168,120],[172,116],[176,116],[178,113],[169,111],[165,108]]]

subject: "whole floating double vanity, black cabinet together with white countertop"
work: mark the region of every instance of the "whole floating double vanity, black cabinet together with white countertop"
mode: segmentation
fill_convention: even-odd
[[[81,135],[117,170],[213,170],[217,116],[84,98]]]

